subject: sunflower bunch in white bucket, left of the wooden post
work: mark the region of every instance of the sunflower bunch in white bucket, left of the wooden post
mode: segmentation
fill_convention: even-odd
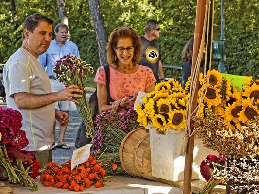
[[[169,128],[181,130],[186,124],[188,95],[179,81],[169,80],[155,86],[155,91],[143,98],[143,104],[137,104],[137,121],[140,126],[149,124],[160,131]]]

